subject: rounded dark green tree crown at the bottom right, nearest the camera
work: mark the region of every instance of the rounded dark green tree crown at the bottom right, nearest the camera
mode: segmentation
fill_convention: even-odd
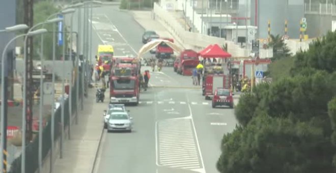
[[[307,122],[254,118],[245,128],[226,134],[217,162],[220,172],[333,172],[323,129]]]

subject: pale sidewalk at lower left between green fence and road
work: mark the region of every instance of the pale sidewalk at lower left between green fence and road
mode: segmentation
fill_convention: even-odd
[[[78,125],[73,122],[71,139],[65,140],[63,158],[57,157],[53,172],[91,173],[103,132],[102,113],[106,104],[95,102],[95,90],[89,90],[88,95],[84,109],[78,112]]]

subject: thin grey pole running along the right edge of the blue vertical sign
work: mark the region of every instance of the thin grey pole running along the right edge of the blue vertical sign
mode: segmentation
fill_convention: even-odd
[[[63,31],[63,50],[62,50],[62,62],[63,62],[63,67],[65,67],[65,46],[66,46],[66,41],[65,41],[65,15],[63,15],[63,22],[62,22],[62,31]],[[61,100],[61,138],[60,138],[60,158],[63,158],[63,137],[64,137],[64,100],[65,100],[65,70],[62,70],[62,100]]]

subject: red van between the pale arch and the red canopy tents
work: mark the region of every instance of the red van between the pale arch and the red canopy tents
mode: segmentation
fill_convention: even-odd
[[[177,73],[191,76],[192,69],[196,68],[199,63],[198,53],[191,49],[186,49],[181,52],[178,59]]]

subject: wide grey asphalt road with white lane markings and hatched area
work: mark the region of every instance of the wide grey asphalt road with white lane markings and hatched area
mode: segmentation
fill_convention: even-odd
[[[143,45],[144,29],[116,6],[94,9],[92,24],[94,44],[111,44],[116,55],[136,55]],[[134,131],[104,133],[96,172],[217,172],[222,135],[236,125],[234,110],[211,108],[201,89],[186,88],[190,76],[169,67],[152,73],[150,83],[139,105],[127,107]]]

